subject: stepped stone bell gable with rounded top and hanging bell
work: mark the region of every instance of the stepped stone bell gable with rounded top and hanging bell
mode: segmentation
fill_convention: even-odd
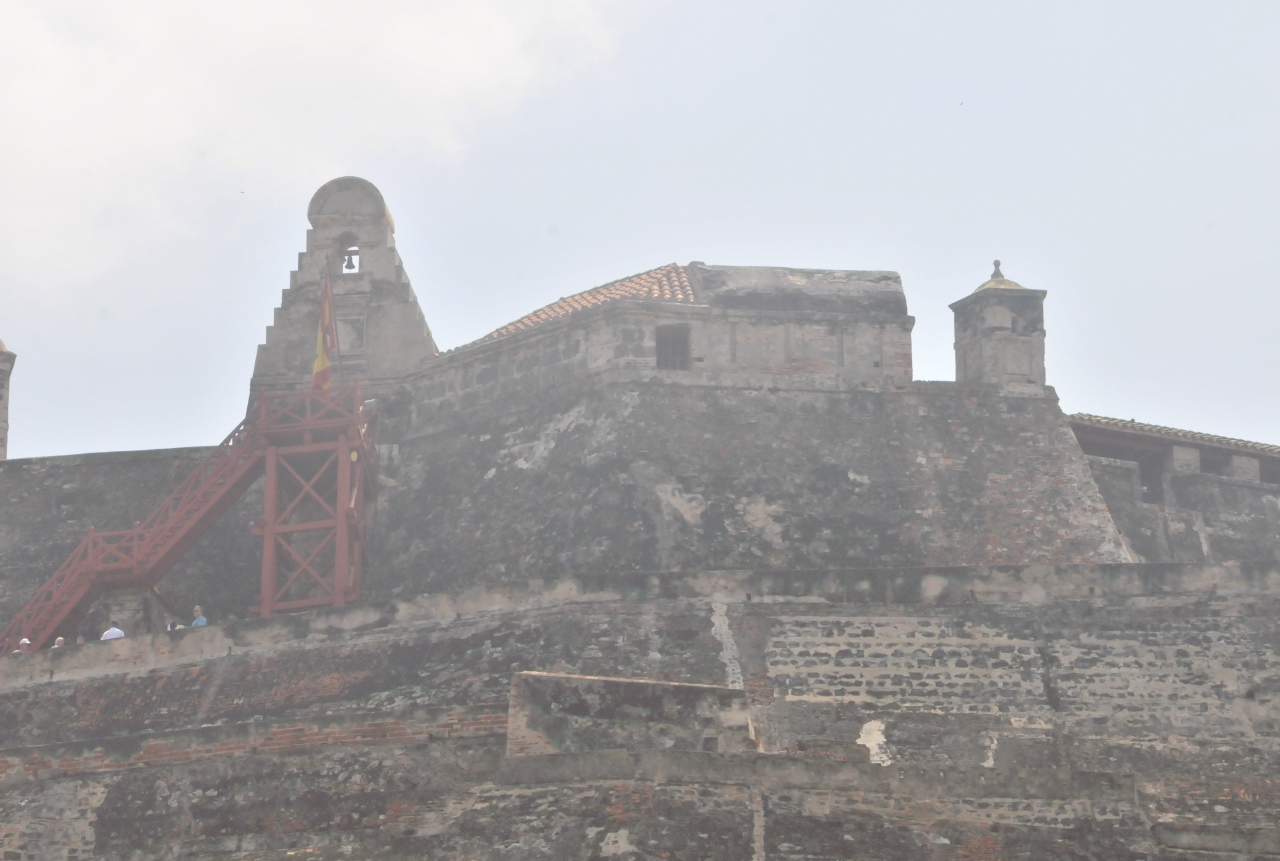
[[[311,385],[325,267],[338,328],[335,383],[360,383],[366,397],[389,393],[438,354],[417,297],[396,253],[396,221],[372,183],[342,177],[307,206],[306,251],[257,348],[252,391]]]

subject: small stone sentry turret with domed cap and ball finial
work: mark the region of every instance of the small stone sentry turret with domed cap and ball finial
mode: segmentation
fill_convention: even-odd
[[[1044,390],[1044,290],[1028,290],[996,271],[951,303],[956,326],[956,383],[1007,394]]]

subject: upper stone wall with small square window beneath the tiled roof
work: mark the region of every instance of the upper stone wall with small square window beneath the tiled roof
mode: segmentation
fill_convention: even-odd
[[[671,322],[689,326],[689,371],[654,367],[657,326]],[[902,388],[911,379],[911,324],[906,316],[620,302],[434,359],[406,380],[408,402],[397,397],[388,418],[397,429],[407,420],[411,435],[618,371],[745,389]]]

